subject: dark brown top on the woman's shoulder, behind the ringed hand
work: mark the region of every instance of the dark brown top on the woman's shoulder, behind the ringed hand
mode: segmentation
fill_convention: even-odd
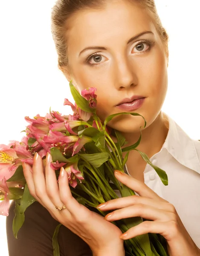
[[[9,256],[53,256],[52,237],[59,224],[49,212],[35,202],[25,211],[25,222],[15,239],[12,232],[14,201],[6,218]],[[67,227],[61,226],[58,233],[61,256],[92,256],[90,247]]]

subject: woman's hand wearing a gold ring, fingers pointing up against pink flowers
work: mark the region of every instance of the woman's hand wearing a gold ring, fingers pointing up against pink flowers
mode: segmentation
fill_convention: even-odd
[[[59,181],[50,167],[51,156],[46,156],[45,173],[41,157],[36,153],[33,167],[23,164],[23,172],[31,195],[45,207],[55,220],[81,237],[95,256],[124,255],[122,231],[103,216],[90,211],[72,197],[68,175],[62,169]],[[65,209],[58,210],[55,207]],[[69,245],[70,246],[70,245]],[[114,253],[114,254],[113,254]]]

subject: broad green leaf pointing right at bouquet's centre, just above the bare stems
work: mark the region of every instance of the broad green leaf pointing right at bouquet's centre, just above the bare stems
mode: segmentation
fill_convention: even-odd
[[[80,156],[82,159],[86,160],[92,166],[97,168],[110,158],[110,155],[107,152],[97,154],[80,154]]]

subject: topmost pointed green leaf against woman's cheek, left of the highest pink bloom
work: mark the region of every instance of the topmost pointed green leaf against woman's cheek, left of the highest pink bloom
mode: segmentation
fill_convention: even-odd
[[[75,103],[79,108],[81,108],[83,111],[90,112],[90,113],[95,111],[89,107],[88,101],[84,99],[84,97],[82,97],[81,94],[78,92],[78,90],[76,90],[76,88],[73,86],[72,80],[70,81],[70,90],[75,100]]]

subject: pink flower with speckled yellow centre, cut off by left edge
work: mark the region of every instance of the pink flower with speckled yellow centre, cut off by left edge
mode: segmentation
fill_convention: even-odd
[[[17,167],[20,165],[20,160],[17,157],[14,149],[10,148],[7,145],[0,145],[0,180],[4,177],[8,180]]]

